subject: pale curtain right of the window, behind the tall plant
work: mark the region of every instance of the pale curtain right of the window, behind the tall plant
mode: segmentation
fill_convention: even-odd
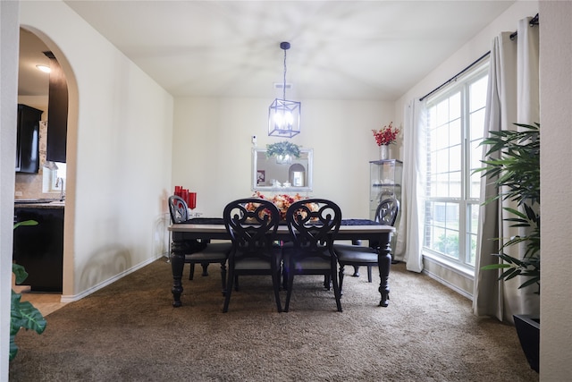
[[[530,20],[518,22],[516,41],[510,39],[510,32],[503,32],[492,41],[485,136],[490,131],[517,129],[514,123],[540,123],[539,29],[531,28]],[[486,148],[483,153],[485,151]],[[491,181],[483,178],[481,200],[496,193]],[[517,234],[503,220],[501,207],[508,203],[500,200],[480,208],[473,311],[477,316],[494,316],[513,322],[513,314],[538,314],[539,299],[534,287],[518,289],[523,283],[520,277],[499,281],[500,271],[481,270],[498,260],[491,254],[499,252],[500,242],[493,239]],[[505,252],[519,258],[518,250],[513,246]]]

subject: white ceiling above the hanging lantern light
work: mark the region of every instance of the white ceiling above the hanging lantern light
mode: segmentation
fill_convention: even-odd
[[[175,97],[280,96],[289,41],[286,98],[392,101],[515,2],[65,3]]]

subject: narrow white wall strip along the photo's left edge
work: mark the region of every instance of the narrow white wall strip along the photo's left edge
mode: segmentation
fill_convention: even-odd
[[[8,380],[10,344],[18,9],[17,2],[0,1],[0,380]]]

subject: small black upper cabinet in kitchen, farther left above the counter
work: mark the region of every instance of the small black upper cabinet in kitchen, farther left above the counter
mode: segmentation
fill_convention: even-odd
[[[18,104],[18,130],[16,132],[16,172],[38,173],[39,122],[42,111]]]

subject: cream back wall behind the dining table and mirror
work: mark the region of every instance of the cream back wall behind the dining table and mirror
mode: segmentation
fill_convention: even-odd
[[[268,137],[273,98],[176,98],[172,186],[197,191],[203,216],[222,216],[232,199],[252,195],[251,137]],[[369,161],[379,159],[372,129],[393,120],[393,105],[381,102],[299,99],[301,132],[292,142],[314,149],[314,191],[332,199],[346,217],[369,216]]]

